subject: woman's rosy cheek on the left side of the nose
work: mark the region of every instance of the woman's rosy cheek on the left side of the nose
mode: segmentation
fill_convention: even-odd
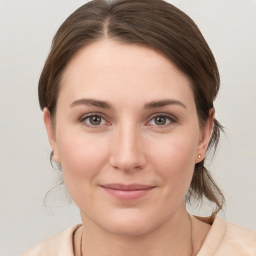
[[[68,136],[66,135],[68,134]],[[84,182],[91,182],[108,158],[107,143],[78,132],[61,135],[58,143],[61,168],[67,190],[79,190]],[[86,184],[85,184],[86,185]],[[74,189],[73,189],[74,188]]]

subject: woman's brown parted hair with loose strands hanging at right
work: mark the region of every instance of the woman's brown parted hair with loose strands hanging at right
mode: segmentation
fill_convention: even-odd
[[[92,0],[76,9],[61,24],[51,45],[38,84],[40,108],[54,115],[61,77],[74,53],[104,38],[149,46],[167,57],[191,80],[199,124],[203,127],[217,95],[220,79],[214,56],[193,20],[163,0]],[[207,151],[214,154],[220,123],[214,118]],[[207,198],[215,214],[224,197],[204,167],[195,164],[187,200]]]

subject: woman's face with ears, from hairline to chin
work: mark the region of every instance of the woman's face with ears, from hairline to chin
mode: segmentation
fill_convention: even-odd
[[[189,79],[164,56],[113,40],[75,54],[54,132],[47,109],[44,121],[83,223],[126,235],[182,215],[212,122],[200,129]]]

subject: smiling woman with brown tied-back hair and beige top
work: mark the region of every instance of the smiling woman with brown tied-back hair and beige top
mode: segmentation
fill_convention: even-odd
[[[214,57],[162,0],[94,0],[53,38],[38,95],[78,224],[22,255],[254,255],[204,167],[221,125]],[[186,201],[208,199],[208,218]]]

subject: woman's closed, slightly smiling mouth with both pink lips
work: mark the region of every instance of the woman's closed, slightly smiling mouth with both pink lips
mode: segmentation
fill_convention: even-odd
[[[149,193],[155,186],[144,184],[105,184],[101,187],[121,200],[135,200]]]

